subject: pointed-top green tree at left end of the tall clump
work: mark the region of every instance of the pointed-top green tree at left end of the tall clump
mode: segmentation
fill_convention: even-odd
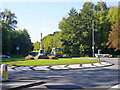
[[[68,13],[68,17],[63,17],[59,23],[59,29],[61,29],[61,41],[63,43],[63,52],[72,56],[78,55],[79,50],[79,21],[78,12],[72,8]]]

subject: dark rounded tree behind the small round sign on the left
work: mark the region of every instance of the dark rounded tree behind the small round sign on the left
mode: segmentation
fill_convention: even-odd
[[[11,51],[10,54],[27,55],[32,49],[30,36],[26,29],[10,32]],[[19,51],[16,50],[19,47]]]

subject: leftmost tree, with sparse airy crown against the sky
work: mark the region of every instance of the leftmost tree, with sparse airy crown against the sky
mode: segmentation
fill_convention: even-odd
[[[5,9],[4,12],[0,12],[0,22],[2,29],[2,53],[10,53],[10,31],[15,30],[17,21],[16,16],[11,11]]]

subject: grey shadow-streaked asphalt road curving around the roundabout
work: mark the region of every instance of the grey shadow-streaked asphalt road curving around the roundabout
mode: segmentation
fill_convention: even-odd
[[[109,67],[60,71],[11,71],[10,79],[44,80],[29,88],[110,88],[118,84],[118,59],[102,59],[114,63]],[[119,70],[119,71],[118,71]]]

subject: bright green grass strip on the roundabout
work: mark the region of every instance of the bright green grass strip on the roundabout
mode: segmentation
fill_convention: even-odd
[[[100,60],[99,62],[102,62]],[[37,60],[25,60],[25,59],[3,59],[2,64],[9,66],[44,66],[44,65],[69,65],[69,64],[87,64],[96,63],[96,59],[37,59]]]

